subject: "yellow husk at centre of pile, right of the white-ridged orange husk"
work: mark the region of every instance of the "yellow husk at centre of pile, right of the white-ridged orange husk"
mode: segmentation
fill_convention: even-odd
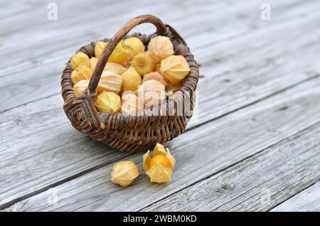
[[[123,72],[121,77],[124,80],[124,85],[122,88],[124,92],[136,91],[139,85],[142,84],[141,76],[133,67],[130,67],[125,72]]]

